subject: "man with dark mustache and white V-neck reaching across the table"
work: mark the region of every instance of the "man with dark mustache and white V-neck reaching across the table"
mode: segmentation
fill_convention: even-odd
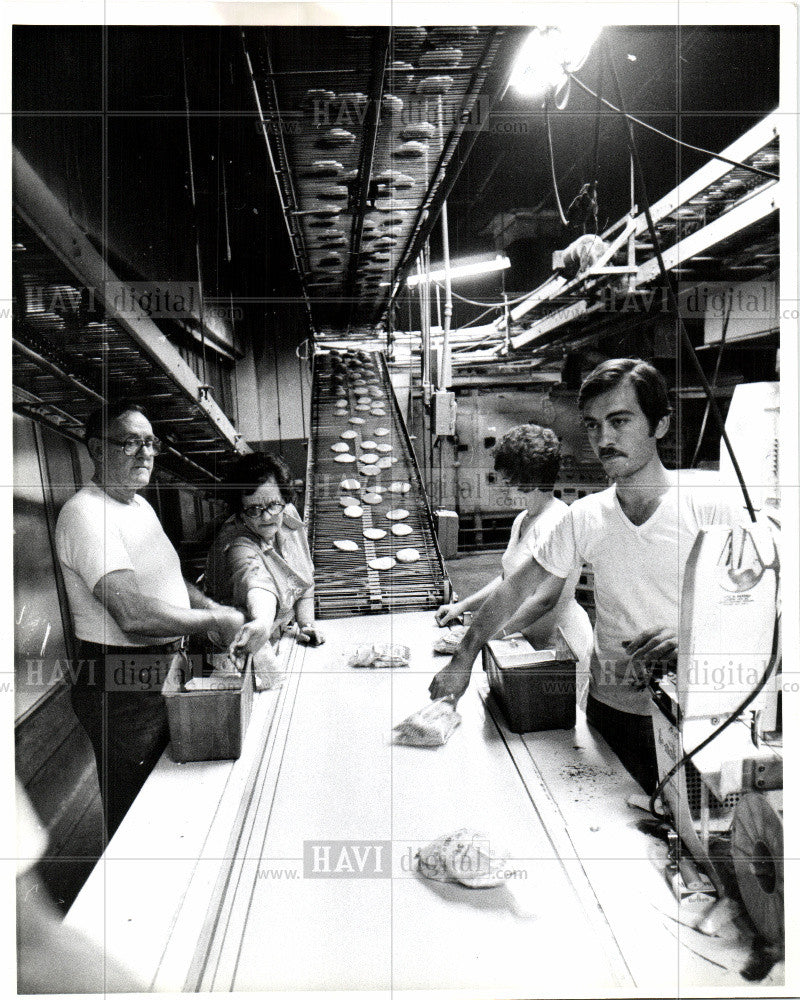
[[[669,430],[667,386],[634,358],[605,361],[578,396],[592,450],[614,483],[576,500],[534,557],[484,603],[431,696],[466,690],[481,647],[513,618],[514,628],[549,611],[565,577],[594,571],[596,621],[586,718],[647,792],[657,784],[646,679],[677,656],[683,571],[701,527],[743,519],[729,491],[678,488],[658,454]]]

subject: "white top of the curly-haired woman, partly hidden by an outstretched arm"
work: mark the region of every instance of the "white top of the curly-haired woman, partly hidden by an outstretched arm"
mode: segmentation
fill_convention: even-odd
[[[547,538],[568,510],[569,507],[563,500],[553,497],[539,515],[525,526],[524,532],[522,532],[522,522],[527,511],[523,510],[514,518],[511,537],[500,561],[504,578],[511,576],[520,566],[530,561],[541,542]],[[592,626],[589,616],[575,600],[575,587],[581,569],[579,566],[568,574],[556,606],[546,615],[542,615],[535,625],[526,629],[525,635],[537,649],[546,649],[557,641],[556,627],[561,628],[579,663],[585,669],[592,648]]]

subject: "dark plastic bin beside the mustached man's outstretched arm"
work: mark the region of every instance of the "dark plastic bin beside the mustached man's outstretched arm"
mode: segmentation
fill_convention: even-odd
[[[576,662],[563,635],[554,649],[534,649],[521,635],[484,646],[489,689],[512,733],[575,726]]]

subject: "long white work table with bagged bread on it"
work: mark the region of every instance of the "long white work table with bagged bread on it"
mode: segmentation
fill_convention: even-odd
[[[699,935],[678,923],[654,863],[663,845],[638,828],[625,805],[638,788],[582,716],[574,731],[515,736],[484,705],[476,667],[446,746],[395,746],[392,726],[446,662],[431,653],[433,615],[322,626],[317,649],[283,640],[286,681],[256,696],[238,761],[180,765],[167,751],[69,923],[156,991],[656,996],[743,983],[679,943]],[[373,641],[411,647],[411,667],[346,665]],[[502,886],[414,870],[418,848],[460,827],[510,851]],[[311,876],[304,845],[323,841],[347,842],[350,858],[351,842],[367,858],[383,843],[390,877]]]

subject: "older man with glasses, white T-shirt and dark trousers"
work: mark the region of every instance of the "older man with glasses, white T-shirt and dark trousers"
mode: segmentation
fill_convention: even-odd
[[[171,654],[183,636],[209,630],[231,642],[244,617],[183,579],[138,496],[161,450],[144,407],[101,408],[85,441],[94,476],[64,505],[56,551],[78,646],[72,705],[94,748],[111,837],[169,739],[160,681]]]

